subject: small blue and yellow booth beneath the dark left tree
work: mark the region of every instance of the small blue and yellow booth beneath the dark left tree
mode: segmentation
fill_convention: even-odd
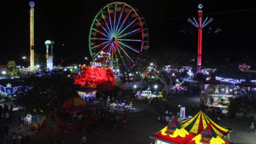
[[[46,126],[45,115],[42,115],[41,109],[34,109],[33,113],[26,115],[25,124],[27,130],[38,130]]]

